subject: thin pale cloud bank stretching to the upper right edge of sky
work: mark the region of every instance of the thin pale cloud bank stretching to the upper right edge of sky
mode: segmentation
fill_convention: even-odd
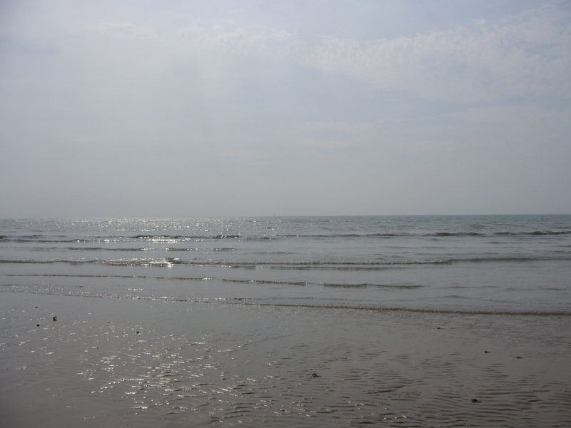
[[[483,20],[415,36],[377,41],[324,39],[300,62],[398,88],[420,98],[496,101],[518,96],[571,96],[569,14],[551,7],[502,24]]]

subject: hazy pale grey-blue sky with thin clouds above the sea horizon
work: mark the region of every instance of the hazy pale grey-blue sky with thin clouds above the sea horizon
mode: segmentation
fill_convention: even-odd
[[[0,3],[0,218],[571,213],[570,1]]]

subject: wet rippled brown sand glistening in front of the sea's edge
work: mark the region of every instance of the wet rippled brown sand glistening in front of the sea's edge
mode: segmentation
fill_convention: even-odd
[[[1,427],[571,426],[571,317],[0,297]]]

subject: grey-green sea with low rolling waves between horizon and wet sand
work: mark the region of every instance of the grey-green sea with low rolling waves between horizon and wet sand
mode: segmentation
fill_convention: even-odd
[[[0,220],[3,291],[571,314],[571,215]]]

